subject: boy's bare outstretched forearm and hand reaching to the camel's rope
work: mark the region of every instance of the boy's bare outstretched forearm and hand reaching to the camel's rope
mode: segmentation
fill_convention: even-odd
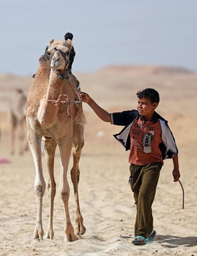
[[[110,113],[103,110],[87,93],[79,92],[79,98],[83,102],[89,104],[101,120],[104,122],[111,122]]]

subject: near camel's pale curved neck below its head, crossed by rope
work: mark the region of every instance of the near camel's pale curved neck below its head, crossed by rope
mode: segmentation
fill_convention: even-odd
[[[52,126],[56,121],[58,106],[54,102],[47,100],[57,100],[62,92],[63,81],[53,71],[51,71],[49,86],[45,98],[41,99],[38,111],[39,122],[46,127]]]

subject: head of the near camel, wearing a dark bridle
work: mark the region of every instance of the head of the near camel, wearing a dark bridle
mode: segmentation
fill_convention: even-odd
[[[55,71],[67,71],[69,67],[70,49],[63,40],[51,40],[47,51],[51,58],[51,68]]]

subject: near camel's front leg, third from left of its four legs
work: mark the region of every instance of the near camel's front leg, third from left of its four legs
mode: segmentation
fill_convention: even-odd
[[[61,158],[61,178],[59,184],[59,194],[63,201],[64,214],[65,214],[65,242],[73,242],[78,240],[74,234],[74,228],[71,223],[70,214],[69,214],[69,196],[70,196],[70,187],[67,180],[67,172],[69,159],[72,150],[72,138],[67,138],[66,141],[58,143],[60,158]]]

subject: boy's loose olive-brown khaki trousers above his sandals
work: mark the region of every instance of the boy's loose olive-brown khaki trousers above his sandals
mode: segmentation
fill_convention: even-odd
[[[130,175],[134,175],[139,165],[130,164]],[[135,236],[147,238],[153,229],[152,203],[155,199],[162,164],[155,162],[141,166],[130,183],[137,209]]]

